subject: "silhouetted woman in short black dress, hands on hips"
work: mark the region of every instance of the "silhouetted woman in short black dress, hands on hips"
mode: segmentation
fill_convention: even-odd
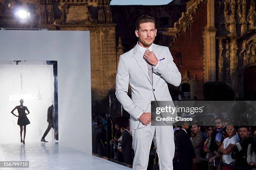
[[[18,116],[13,113],[13,111],[14,111],[15,109],[18,110],[18,113],[19,113]],[[27,110],[28,113],[26,113],[25,110]],[[19,105],[19,106],[16,106],[16,107],[11,111],[11,113],[12,113],[13,115],[15,115],[16,117],[19,117],[19,118],[18,118],[18,125],[20,126],[20,142],[25,144],[26,125],[30,124],[27,115],[28,115],[30,112],[28,111],[28,108],[27,108],[26,106],[23,106],[23,99],[20,99],[20,105]],[[24,127],[24,128],[23,128],[23,127]],[[23,140],[22,140],[22,131],[23,131],[23,129],[24,129],[24,138],[23,138]]]

